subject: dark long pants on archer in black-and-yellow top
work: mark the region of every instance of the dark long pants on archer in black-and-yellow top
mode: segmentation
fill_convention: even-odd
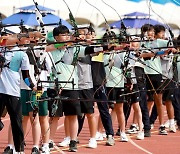
[[[104,101],[104,102],[98,102],[97,101],[97,106],[98,106],[98,110],[100,113],[100,117],[102,120],[103,127],[106,131],[106,135],[114,136],[114,131],[113,131],[113,127],[112,127],[112,119],[111,119],[111,115],[109,114],[106,89],[104,86],[102,86],[101,88],[99,88],[99,86],[94,86],[94,91],[96,91],[95,99],[99,99],[101,101]],[[79,123],[78,135],[81,132],[81,129],[83,127],[84,118],[85,118],[85,116],[84,117],[80,117],[80,116],[78,117],[78,123]]]

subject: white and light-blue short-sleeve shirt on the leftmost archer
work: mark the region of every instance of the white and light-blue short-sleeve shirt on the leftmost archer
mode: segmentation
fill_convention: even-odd
[[[20,70],[29,70],[29,58],[25,52],[16,51],[6,52],[5,59],[9,67],[4,67],[0,74],[0,93],[20,97]]]

